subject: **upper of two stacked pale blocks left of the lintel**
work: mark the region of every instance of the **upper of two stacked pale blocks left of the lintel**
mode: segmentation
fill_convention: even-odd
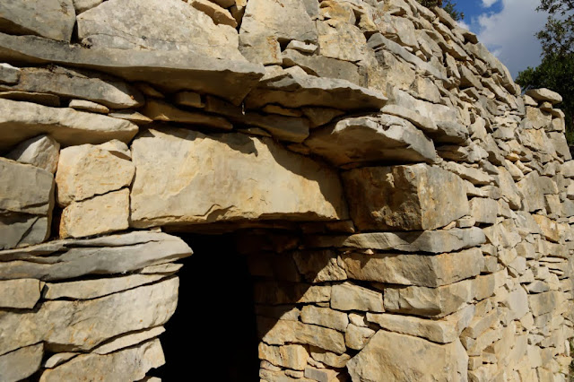
[[[60,152],[56,173],[57,203],[67,206],[128,187],[134,174],[131,161],[108,150],[92,144],[66,147]]]

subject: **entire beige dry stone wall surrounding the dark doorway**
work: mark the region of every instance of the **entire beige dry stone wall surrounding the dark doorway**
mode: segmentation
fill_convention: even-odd
[[[178,230],[241,232],[261,381],[567,380],[561,96],[441,9],[18,0],[0,62],[0,380],[157,380]]]

